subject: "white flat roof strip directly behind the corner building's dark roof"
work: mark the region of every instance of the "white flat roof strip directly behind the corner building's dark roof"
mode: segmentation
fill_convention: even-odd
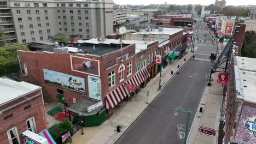
[[[153,44],[155,41],[141,41],[141,40],[122,40],[123,44],[131,45],[135,44],[135,52],[138,53],[142,50],[146,50],[149,44]],[[120,44],[119,39],[105,39],[104,41],[98,41],[97,39],[89,39],[89,40],[78,40],[78,43],[90,43],[90,44]]]

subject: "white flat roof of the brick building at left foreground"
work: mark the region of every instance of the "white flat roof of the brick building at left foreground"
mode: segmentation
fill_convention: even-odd
[[[39,86],[21,81],[14,81],[8,78],[0,77],[0,105],[9,101],[22,97],[32,91],[40,88]]]

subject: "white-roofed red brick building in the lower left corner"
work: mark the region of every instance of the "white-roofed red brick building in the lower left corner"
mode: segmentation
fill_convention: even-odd
[[[23,143],[21,133],[47,129],[42,88],[0,78],[0,143]]]

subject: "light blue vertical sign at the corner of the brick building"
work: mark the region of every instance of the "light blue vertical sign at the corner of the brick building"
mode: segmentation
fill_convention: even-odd
[[[88,91],[90,98],[101,100],[101,79],[99,77],[88,76]]]

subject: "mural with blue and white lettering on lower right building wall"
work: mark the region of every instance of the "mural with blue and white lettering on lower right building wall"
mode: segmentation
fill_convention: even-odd
[[[235,140],[245,144],[256,143],[255,108],[243,105]]]

